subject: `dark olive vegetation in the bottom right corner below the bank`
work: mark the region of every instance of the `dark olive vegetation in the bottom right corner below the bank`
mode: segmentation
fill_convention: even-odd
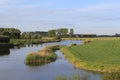
[[[104,74],[103,80],[120,80],[120,72],[119,73]]]

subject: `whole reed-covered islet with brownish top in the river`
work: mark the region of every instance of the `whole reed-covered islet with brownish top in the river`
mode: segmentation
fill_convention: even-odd
[[[53,62],[57,59],[55,50],[58,50],[59,46],[48,46],[38,52],[31,52],[25,58],[25,64],[30,66],[39,66]]]

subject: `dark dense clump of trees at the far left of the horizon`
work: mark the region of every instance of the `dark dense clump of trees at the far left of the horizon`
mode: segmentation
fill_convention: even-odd
[[[9,36],[11,39],[21,37],[21,31],[16,28],[0,28],[0,35]]]

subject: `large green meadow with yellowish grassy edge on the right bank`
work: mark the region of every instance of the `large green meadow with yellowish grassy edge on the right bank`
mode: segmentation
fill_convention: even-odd
[[[61,51],[75,67],[98,72],[120,72],[119,39],[99,39],[64,47]]]

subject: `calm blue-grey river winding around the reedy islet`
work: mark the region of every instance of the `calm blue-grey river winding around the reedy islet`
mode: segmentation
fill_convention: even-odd
[[[0,56],[0,80],[54,80],[57,76],[74,74],[84,76],[85,80],[101,80],[100,74],[75,68],[60,51],[56,51],[58,58],[50,64],[37,67],[24,64],[24,59],[29,52],[41,50],[48,45],[69,46],[71,43],[81,44],[81,41],[67,40],[10,49],[9,54]]]

